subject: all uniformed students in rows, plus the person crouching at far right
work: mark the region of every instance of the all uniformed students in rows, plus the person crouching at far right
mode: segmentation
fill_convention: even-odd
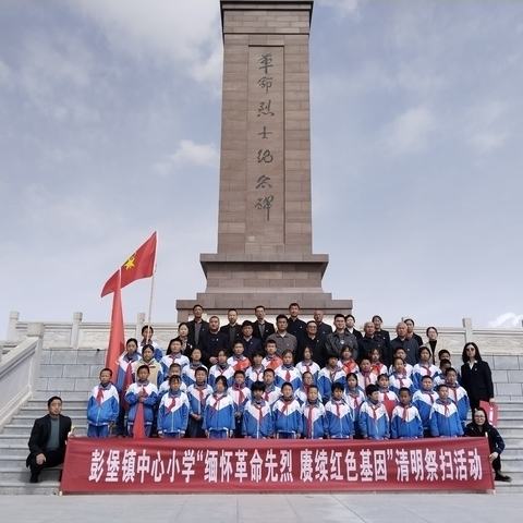
[[[146,436],[160,438],[379,440],[488,429],[496,433],[489,436],[496,478],[509,481],[500,473],[504,443],[499,433],[488,422],[481,428],[476,414],[466,425],[469,397],[447,350],[438,352],[438,367],[429,348],[419,348],[415,365],[398,348],[388,368],[379,350],[356,362],[353,349],[344,346],[339,355],[327,354],[320,368],[308,348],[294,365],[293,351],[278,354],[269,339],[265,351],[255,350],[251,357],[236,341],[232,353],[220,349],[216,363],[204,365],[202,351],[184,354],[179,338],[163,355],[147,329],[142,343],[127,340],[114,385],[112,372],[101,370],[87,406],[89,437],[108,437],[113,427],[118,436],[133,436],[141,403]],[[481,416],[481,410],[475,412]]]

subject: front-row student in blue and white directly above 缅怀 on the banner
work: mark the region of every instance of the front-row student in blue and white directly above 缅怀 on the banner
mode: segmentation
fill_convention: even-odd
[[[207,398],[203,428],[210,439],[227,439],[234,435],[234,402],[227,389],[227,379],[218,376],[215,392]]]

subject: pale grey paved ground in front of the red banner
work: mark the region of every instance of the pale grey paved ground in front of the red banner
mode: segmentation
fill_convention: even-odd
[[[515,523],[522,521],[523,494],[2,496],[0,507],[2,521],[16,523]]]

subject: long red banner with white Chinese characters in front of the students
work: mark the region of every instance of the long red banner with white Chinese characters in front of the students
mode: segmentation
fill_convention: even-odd
[[[486,438],[89,439],[68,442],[61,489],[242,492],[494,489]]]

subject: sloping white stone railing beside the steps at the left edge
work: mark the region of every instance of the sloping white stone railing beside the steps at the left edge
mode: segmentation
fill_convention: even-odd
[[[0,362],[0,430],[36,389],[44,326],[28,324],[25,339]]]

